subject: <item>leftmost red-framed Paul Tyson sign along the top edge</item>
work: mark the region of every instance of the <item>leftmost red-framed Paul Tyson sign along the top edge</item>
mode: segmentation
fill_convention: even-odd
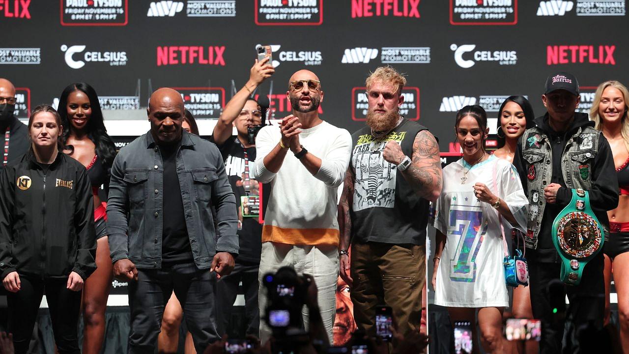
[[[129,0],[59,0],[63,26],[125,26]]]

